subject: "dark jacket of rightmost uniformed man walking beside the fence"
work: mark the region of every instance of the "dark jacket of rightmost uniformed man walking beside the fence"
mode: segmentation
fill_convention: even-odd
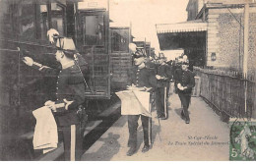
[[[192,87],[195,86],[195,75],[190,70],[183,71],[181,69],[177,69],[175,71],[175,85],[180,83],[182,86],[187,86],[184,90],[179,90],[177,88],[178,92],[185,93],[185,94],[191,94]]]

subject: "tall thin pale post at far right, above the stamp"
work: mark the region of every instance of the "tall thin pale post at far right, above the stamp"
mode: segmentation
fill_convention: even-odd
[[[248,0],[244,4],[244,52],[243,52],[243,76],[245,79],[244,87],[244,109],[245,114],[247,112],[247,74],[248,74],[248,46],[249,46],[249,2]]]

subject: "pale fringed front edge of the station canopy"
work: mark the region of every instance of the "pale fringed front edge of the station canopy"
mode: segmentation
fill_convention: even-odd
[[[193,20],[178,24],[158,24],[157,33],[173,33],[173,32],[187,32],[187,31],[206,31],[207,23],[202,20]]]

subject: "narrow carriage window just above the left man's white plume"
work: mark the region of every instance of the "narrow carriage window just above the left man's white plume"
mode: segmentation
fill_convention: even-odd
[[[65,35],[65,9],[57,3],[51,3],[51,26]]]

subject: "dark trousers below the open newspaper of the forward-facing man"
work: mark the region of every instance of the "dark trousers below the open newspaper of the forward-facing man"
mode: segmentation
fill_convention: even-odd
[[[144,143],[150,145],[150,127],[149,122],[150,118],[143,115],[128,115],[128,129],[129,129],[129,147],[137,147],[137,129],[138,129],[138,120],[141,116],[142,128],[144,134]]]

